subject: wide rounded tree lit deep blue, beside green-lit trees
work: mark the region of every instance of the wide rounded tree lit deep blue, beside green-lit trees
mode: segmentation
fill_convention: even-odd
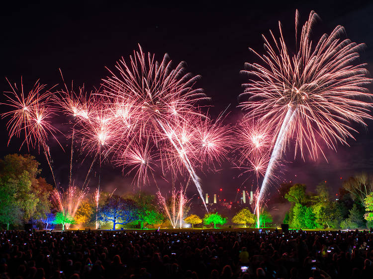
[[[136,219],[137,207],[133,200],[112,195],[99,209],[98,216],[101,222],[113,222],[113,230],[115,230],[116,224],[125,225]]]

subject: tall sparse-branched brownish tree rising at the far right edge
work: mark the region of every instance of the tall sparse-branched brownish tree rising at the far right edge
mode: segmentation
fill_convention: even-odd
[[[365,198],[373,192],[373,178],[366,173],[361,173],[343,182],[343,188],[350,193],[355,202],[366,207]]]

